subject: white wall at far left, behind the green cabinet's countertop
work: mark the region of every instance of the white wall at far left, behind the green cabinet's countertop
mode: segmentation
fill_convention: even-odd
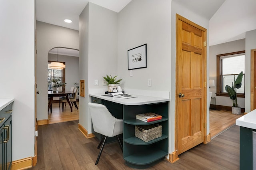
[[[12,160],[34,156],[34,0],[0,2],[0,97],[14,98]]]

